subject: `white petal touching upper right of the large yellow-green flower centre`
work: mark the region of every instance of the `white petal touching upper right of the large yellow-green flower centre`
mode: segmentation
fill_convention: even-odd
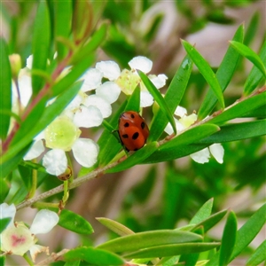
[[[103,121],[103,115],[96,106],[81,106],[74,113],[73,121],[79,128],[98,127]]]

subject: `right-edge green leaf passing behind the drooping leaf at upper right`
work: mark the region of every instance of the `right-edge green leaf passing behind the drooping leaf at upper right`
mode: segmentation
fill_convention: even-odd
[[[262,62],[266,62],[266,42],[263,43],[262,49],[259,53],[260,59],[262,59]],[[249,95],[260,82],[264,80],[262,72],[258,69],[258,67],[253,66],[250,73],[247,76],[245,85],[244,85],[244,95]]]

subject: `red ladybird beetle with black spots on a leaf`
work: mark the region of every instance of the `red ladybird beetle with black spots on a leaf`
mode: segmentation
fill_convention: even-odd
[[[149,137],[149,128],[145,120],[134,111],[121,113],[119,118],[119,137],[128,151],[137,151],[145,145]]]

